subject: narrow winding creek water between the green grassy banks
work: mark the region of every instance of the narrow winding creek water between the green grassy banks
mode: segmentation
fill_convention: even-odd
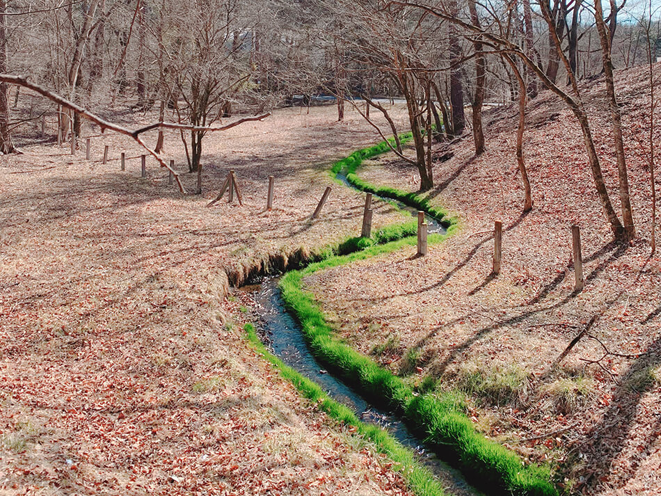
[[[344,175],[337,175],[344,184],[352,189],[356,189],[347,181]],[[401,210],[411,212],[411,215],[417,216],[417,210],[404,205],[397,200],[381,198],[374,195],[391,205],[397,205]],[[429,232],[444,233],[445,227],[438,219],[426,215],[426,222]],[[459,470],[454,469],[443,462],[430,449],[424,446],[424,442],[417,438],[408,427],[389,411],[374,406],[367,401],[360,392],[353,390],[340,378],[336,378],[330,372],[317,362],[312,353],[310,353],[305,338],[301,332],[301,326],[296,319],[289,314],[282,301],[278,283],[280,277],[267,276],[261,280],[253,281],[252,284],[241,287],[241,291],[246,291],[255,302],[255,310],[261,319],[260,336],[264,344],[269,347],[271,352],[278,356],[299,374],[309,378],[320,385],[328,395],[335,401],[351,408],[354,413],[363,422],[377,424],[383,429],[388,430],[402,445],[412,449],[417,454],[418,461],[425,465],[438,478],[448,495],[456,496],[479,496],[478,490],[470,486],[463,478]]]

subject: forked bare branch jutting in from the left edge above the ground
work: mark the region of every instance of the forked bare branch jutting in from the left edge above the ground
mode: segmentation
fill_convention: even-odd
[[[170,168],[170,166],[168,166],[168,164],[163,159],[161,159],[161,157],[159,157],[159,154],[157,154],[157,152],[152,150],[150,147],[148,147],[148,145],[145,144],[144,141],[141,140],[140,138],[141,133],[159,127],[165,127],[168,129],[190,130],[190,131],[225,131],[226,129],[230,129],[234,126],[238,126],[240,124],[243,124],[244,122],[248,122],[252,120],[262,120],[264,118],[269,117],[269,115],[271,115],[271,113],[265,113],[263,115],[255,115],[255,117],[240,119],[237,122],[232,122],[231,124],[220,127],[199,127],[199,126],[189,126],[184,124],[176,124],[174,122],[156,122],[146,127],[141,127],[140,129],[128,129],[127,127],[122,127],[120,125],[114,124],[113,122],[109,122],[107,120],[100,118],[95,113],[83,109],[83,107],[74,104],[73,102],[70,102],[66,98],[63,98],[60,95],[57,95],[56,93],[53,93],[50,90],[47,90],[47,88],[44,88],[43,86],[28,81],[23,76],[0,74],[0,81],[3,83],[10,83],[10,84],[15,84],[17,86],[23,86],[24,88],[33,90],[35,93],[39,93],[40,95],[47,97],[49,100],[51,100],[51,102],[55,102],[56,104],[63,106],[63,108],[70,109],[71,111],[81,115],[82,117],[86,118],[87,120],[90,120],[91,122],[95,122],[97,125],[101,127],[102,132],[105,129],[110,129],[111,131],[115,131],[116,133],[124,134],[125,136],[130,136],[138,143],[138,145],[141,145],[141,147],[143,147],[152,157],[154,157],[154,159],[158,161],[161,167],[168,169],[172,173],[182,193],[186,193],[186,189],[184,189],[184,185],[182,184],[179,178],[179,174],[177,174],[175,170]]]

